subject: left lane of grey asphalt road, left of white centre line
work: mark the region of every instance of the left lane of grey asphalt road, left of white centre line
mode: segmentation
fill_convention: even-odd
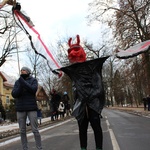
[[[104,135],[104,149],[113,150],[106,119],[103,118],[101,123]],[[44,150],[80,150],[78,126],[76,120],[73,118],[44,127],[40,129],[40,132]],[[29,150],[34,150],[36,147],[32,133],[28,135]],[[21,150],[20,139],[18,137],[16,138],[14,142],[4,144],[0,149]],[[88,150],[95,150],[93,130],[90,125],[88,129]]]

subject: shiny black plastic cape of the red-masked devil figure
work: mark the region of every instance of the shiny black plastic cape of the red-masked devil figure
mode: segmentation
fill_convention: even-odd
[[[71,78],[76,88],[76,100],[72,115],[77,120],[84,117],[86,106],[99,114],[104,107],[105,94],[102,83],[102,66],[107,58],[98,58],[60,68]]]

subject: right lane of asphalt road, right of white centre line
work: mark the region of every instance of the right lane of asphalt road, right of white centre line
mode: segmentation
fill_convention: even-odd
[[[107,117],[109,129],[113,131],[120,150],[150,149],[149,117],[107,109],[103,113]]]

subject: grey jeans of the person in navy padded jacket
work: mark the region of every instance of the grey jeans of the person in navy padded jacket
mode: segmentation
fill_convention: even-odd
[[[27,134],[26,134],[27,116],[29,117],[30,120],[30,125],[36,142],[36,147],[38,150],[42,150],[41,136],[38,131],[37,111],[17,112],[17,120],[19,123],[22,148],[23,150],[28,150],[28,141],[27,141]]]

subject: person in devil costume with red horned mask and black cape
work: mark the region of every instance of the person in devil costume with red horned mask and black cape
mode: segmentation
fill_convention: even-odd
[[[102,66],[109,56],[86,61],[79,35],[76,44],[71,44],[71,40],[72,38],[68,41],[70,47],[68,58],[72,64],[59,70],[70,77],[76,89],[72,115],[78,122],[80,147],[81,150],[87,149],[87,129],[90,122],[94,131],[96,150],[102,150],[103,134],[100,116],[105,104]]]

